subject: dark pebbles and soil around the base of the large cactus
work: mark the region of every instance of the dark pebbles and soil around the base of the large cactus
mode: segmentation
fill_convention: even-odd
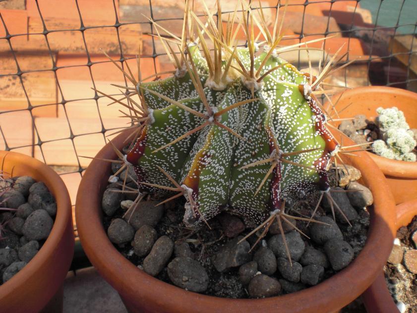
[[[119,166],[113,164],[113,173]],[[251,249],[263,229],[244,239],[253,228],[246,228],[240,218],[227,212],[211,219],[210,229],[203,225],[193,230],[182,223],[185,202],[182,197],[156,206],[163,199],[147,195],[134,208],[132,204],[138,194],[132,171],[123,191],[126,176],[122,172],[119,181],[112,176],[112,183],[103,194],[104,228],[115,247],[133,264],[186,290],[227,298],[262,298],[297,292],[348,266],[365,244],[369,226],[366,205],[372,203],[372,194],[356,182],[360,178],[357,169],[342,166],[338,173],[337,182],[335,170],[330,180],[333,186],[341,187],[333,187],[331,194],[352,226],[336,208],[335,222],[330,203],[323,200],[314,216],[322,224],[311,222],[307,227],[306,221],[288,219],[305,236],[283,222],[284,241],[274,222]],[[286,213],[309,218],[318,195],[293,203]]]

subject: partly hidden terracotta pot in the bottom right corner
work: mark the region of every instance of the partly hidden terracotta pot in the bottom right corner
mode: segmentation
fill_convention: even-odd
[[[417,215],[417,199],[397,205],[397,228],[407,226]],[[362,295],[368,313],[398,312],[397,306],[388,290],[384,272],[381,272],[373,284]]]

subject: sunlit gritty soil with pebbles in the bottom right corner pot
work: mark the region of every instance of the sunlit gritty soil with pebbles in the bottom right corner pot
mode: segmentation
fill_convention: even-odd
[[[388,289],[407,313],[417,312],[417,216],[397,231],[394,248],[384,267]]]

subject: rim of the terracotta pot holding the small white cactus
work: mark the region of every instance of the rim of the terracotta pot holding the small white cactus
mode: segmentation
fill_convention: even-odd
[[[409,90],[401,89],[401,88],[394,88],[394,87],[387,87],[387,86],[363,86],[363,87],[357,87],[357,88],[345,90],[344,92],[338,93],[333,96],[333,99],[339,99],[339,97],[342,94],[344,98],[348,98],[348,97],[357,98],[357,95],[363,96],[365,94],[372,95],[372,97],[377,96],[377,98],[383,98],[384,96],[393,97],[396,95],[401,95],[403,97],[413,99],[417,106],[417,93],[409,91]],[[381,103],[382,102],[383,100],[381,100]],[[392,105],[392,106],[395,106],[395,105]],[[407,116],[406,116],[406,119],[407,119]],[[417,179],[417,162],[391,160],[385,157],[381,157],[372,152],[366,152],[366,153],[379,166],[379,168],[384,174],[393,176],[393,177]]]

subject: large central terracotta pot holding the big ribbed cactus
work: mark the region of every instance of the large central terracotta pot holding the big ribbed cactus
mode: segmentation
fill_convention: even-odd
[[[113,143],[123,146],[128,132]],[[349,140],[349,139],[348,139]],[[119,292],[129,312],[335,312],[375,280],[392,249],[395,234],[394,199],[385,178],[365,153],[349,162],[363,175],[362,183],[374,196],[374,209],[365,247],[345,269],[317,286],[266,299],[226,299],[185,291],[162,282],[128,261],[109,241],[102,224],[101,199],[111,173],[108,162],[95,159],[78,189],[75,218],[81,244],[99,273]],[[116,159],[107,144],[97,158]]]

